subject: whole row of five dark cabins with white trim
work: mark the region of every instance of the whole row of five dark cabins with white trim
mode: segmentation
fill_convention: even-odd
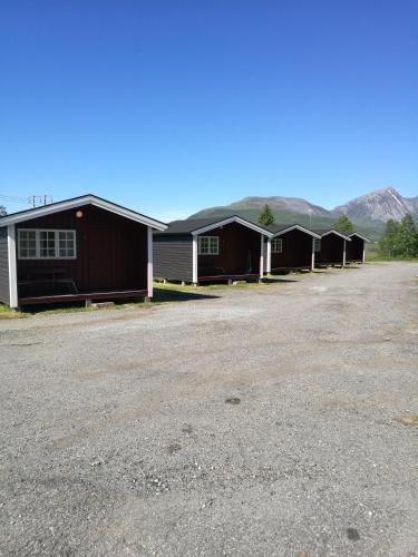
[[[0,302],[149,299],[154,276],[198,284],[343,266],[364,261],[366,241],[236,215],[166,225],[86,195],[0,218]]]

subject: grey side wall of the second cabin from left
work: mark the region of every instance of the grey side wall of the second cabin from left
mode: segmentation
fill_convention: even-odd
[[[193,282],[192,234],[154,234],[154,276]]]

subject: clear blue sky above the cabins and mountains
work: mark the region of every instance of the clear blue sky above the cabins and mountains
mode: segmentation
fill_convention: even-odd
[[[2,195],[166,219],[246,195],[418,195],[417,0],[0,8]]]

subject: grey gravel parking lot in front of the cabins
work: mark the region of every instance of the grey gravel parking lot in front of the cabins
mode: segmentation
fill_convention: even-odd
[[[418,555],[417,275],[0,321],[0,554]]]

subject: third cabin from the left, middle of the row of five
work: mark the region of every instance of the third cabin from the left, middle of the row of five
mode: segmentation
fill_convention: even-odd
[[[321,236],[299,224],[270,225],[265,237],[265,272],[276,274],[314,268],[315,240]]]

